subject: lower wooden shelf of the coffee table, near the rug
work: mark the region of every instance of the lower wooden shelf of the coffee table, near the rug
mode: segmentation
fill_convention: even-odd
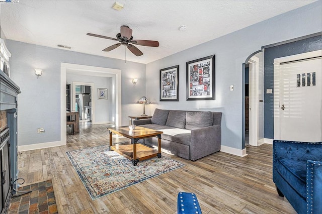
[[[116,144],[111,146],[111,150],[114,150],[127,159],[131,160],[133,166],[136,166],[139,161],[146,160],[152,157],[161,158],[161,153],[158,153],[157,150],[138,143],[126,145]],[[136,157],[133,157],[133,151],[136,151]]]

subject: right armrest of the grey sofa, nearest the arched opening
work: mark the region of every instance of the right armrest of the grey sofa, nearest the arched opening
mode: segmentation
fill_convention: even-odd
[[[220,151],[221,127],[214,125],[191,130],[190,160],[210,155]]]

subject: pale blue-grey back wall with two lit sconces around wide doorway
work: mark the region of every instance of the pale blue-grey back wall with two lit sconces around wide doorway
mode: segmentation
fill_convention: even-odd
[[[145,64],[48,48],[7,40],[12,53],[11,77],[20,86],[18,96],[18,145],[60,141],[60,63],[90,65],[122,70],[122,124],[128,116],[141,113],[134,104],[145,95]],[[37,79],[34,68],[43,69]],[[131,79],[138,78],[133,86]],[[37,128],[45,133],[37,134]]]

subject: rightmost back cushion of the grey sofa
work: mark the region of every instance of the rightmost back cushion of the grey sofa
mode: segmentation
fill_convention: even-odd
[[[211,112],[187,112],[186,129],[193,130],[212,126]]]

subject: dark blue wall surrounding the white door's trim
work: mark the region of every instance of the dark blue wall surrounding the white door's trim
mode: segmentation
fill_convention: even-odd
[[[317,51],[322,49],[322,37],[315,36],[296,42],[290,42],[264,51],[264,137],[274,139],[273,93],[267,94],[266,89],[274,87],[274,59],[284,56]]]

